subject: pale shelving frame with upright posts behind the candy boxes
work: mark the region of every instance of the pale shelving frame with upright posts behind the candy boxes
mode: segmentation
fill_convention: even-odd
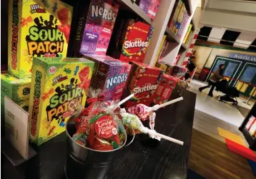
[[[147,24],[152,25],[154,27],[152,39],[150,41],[149,48],[147,50],[147,53],[144,59],[144,63],[154,65],[154,61],[157,56],[157,51],[159,49],[159,46],[161,44],[164,34],[167,35],[167,40],[172,42],[169,45],[169,47],[171,48],[171,51],[163,59],[165,63],[172,65],[172,63],[174,62],[174,59],[179,53],[180,48],[182,48],[183,52],[187,51],[188,46],[185,46],[182,42],[186,34],[187,28],[190,24],[190,21],[192,20],[192,16],[195,14],[195,9],[197,7],[197,0],[182,0],[185,4],[187,4],[187,7],[189,7],[187,11],[188,11],[188,14],[190,14],[190,16],[187,22],[187,26],[185,27],[186,30],[182,34],[181,39],[177,38],[177,36],[175,36],[175,34],[172,33],[172,31],[169,30],[169,28],[167,27],[172,11],[175,10],[173,9],[175,0],[162,0],[159,5],[159,9],[157,11],[157,15],[155,16],[154,21],[152,21],[149,18],[149,16],[147,16],[147,14],[145,14],[144,11],[142,11],[142,9],[139,9],[139,6],[137,6],[137,4],[134,4],[132,0],[117,0],[117,1],[123,8],[129,9],[129,11],[133,11],[135,14],[137,14],[137,16],[143,19]]]

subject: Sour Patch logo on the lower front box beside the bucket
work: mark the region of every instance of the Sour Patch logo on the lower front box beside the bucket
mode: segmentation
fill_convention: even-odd
[[[50,98],[50,104],[46,107],[48,121],[58,120],[59,122],[64,122],[65,118],[74,113],[74,111],[69,109],[69,103],[72,101],[82,103],[82,89],[78,88],[76,83],[77,81],[74,81],[74,78],[72,78],[70,84],[66,86],[61,84],[61,87],[58,86],[55,89],[56,93]]]

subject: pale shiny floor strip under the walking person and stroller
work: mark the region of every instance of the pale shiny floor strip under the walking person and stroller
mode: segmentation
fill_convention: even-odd
[[[231,123],[235,126],[240,126],[240,124],[244,120],[244,117],[237,110],[237,108],[235,106],[230,106],[230,104],[228,103],[223,103],[221,101],[217,101],[217,99],[215,98],[207,96],[207,93],[210,89],[205,89],[202,93],[198,91],[198,88],[205,85],[206,83],[194,80],[191,83],[189,83],[190,88],[188,88],[187,90],[197,93],[197,101],[195,108],[211,116],[220,118],[222,121],[226,121],[227,123]],[[219,94],[220,93],[217,91],[213,92],[214,96],[218,96]],[[238,101],[238,103],[240,104],[242,103],[242,101],[243,99],[241,98]]]

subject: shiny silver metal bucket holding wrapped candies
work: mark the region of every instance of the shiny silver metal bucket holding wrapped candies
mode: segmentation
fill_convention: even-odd
[[[124,147],[127,141],[127,133],[119,123],[122,133],[125,134],[125,140],[120,148],[109,151],[93,150],[83,147],[76,143],[72,136],[77,131],[74,119],[78,113],[69,118],[66,125],[68,153],[65,163],[65,174],[68,179],[102,179],[106,178],[107,172],[111,167],[112,160],[118,155],[119,149]]]

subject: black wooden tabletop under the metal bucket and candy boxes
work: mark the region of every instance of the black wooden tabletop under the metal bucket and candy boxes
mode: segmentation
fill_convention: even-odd
[[[185,91],[184,100],[157,111],[155,129],[159,133],[184,141],[177,145],[166,140],[138,135],[134,142],[117,154],[107,178],[186,178],[196,94]],[[1,155],[3,178],[62,179],[67,154],[65,133],[41,145],[38,155],[14,168]]]

